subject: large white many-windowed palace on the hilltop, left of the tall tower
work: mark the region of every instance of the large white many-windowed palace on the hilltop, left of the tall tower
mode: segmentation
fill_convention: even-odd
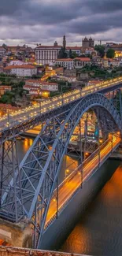
[[[54,43],[54,46],[37,46],[35,48],[35,62],[37,64],[52,64],[57,60],[61,46]]]

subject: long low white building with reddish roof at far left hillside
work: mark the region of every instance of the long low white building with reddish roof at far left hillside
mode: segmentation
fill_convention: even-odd
[[[33,76],[37,74],[37,68],[34,65],[9,65],[3,72],[16,76]]]

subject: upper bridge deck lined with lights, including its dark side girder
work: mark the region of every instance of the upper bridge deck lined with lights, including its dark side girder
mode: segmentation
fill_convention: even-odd
[[[80,98],[83,98],[93,92],[101,92],[106,89],[112,90],[113,87],[120,87],[122,84],[122,77],[113,80],[105,80],[95,85],[84,87],[83,90],[69,91],[63,95],[47,99],[41,103],[41,106],[29,106],[26,109],[20,109],[15,113],[9,114],[9,117],[0,118],[0,140],[3,141],[6,137],[19,135],[40,124],[41,121],[54,116],[59,112],[59,109],[66,106],[69,109],[69,104],[73,104]],[[68,107],[67,107],[68,106]],[[62,109],[63,110],[63,109]],[[53,113],[54,111],[54,113]],[[5,135],[6,134],[6,135]],[[5,138],[4,138],[5,135]]]

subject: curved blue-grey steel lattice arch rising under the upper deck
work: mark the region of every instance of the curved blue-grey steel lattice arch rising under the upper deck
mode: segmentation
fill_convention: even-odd
[[[113,122],[114,128],[121,131],[120,115],[113,104],[104,95],[98,93],[87,95],[72,108],[70,113],[62,113],[47,122],[20,165],[22,200],[18,192],[17,206],[23,206],[24,216],[31,219],[34,224],[35,235],[38,234],[38,237],[35,237],[35,247],[39,247],[43,235],[50,199],[69,139],[83,113],[92,107],[99,108],[101,112],[104,110]],[[16,185],[18,184],[19,181]],[[3,210],[7,209],[8,204],[14,210],[14,202],[7,202],[6,197],[3,200]]]

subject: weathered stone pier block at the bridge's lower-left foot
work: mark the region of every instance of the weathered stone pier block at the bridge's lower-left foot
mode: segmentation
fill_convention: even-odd
[[[32,248],[32,228],[29,221],[18,224],[0,219],[0,241],[2,245]]]

